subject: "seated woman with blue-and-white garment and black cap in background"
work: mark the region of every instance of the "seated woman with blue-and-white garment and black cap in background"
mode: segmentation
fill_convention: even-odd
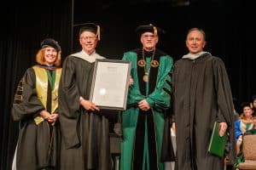
[[[250,103],[241,104],[242,113],[239,119],[235,122],[235,132],[236,132],[236,154],[241,153],[241,142],[242,135],[253,128],[253,109]]]

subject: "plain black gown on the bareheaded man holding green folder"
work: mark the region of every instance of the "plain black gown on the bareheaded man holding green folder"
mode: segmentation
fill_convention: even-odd
[[[230,161],[236,156],[230,82],[222,59],[211,54],[177,60],[172,77],[176,121],[176,170],[220,170],[222,160],[207,152],[215,121],[227,122]]]

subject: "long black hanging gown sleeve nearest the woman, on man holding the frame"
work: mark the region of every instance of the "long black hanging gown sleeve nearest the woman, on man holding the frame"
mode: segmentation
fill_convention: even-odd
[[[67,148],[79,145],[77,122],[79,118],[79,88],[76,83],[75,62],[70,57],[63,62],[59,87],[59,120]]]

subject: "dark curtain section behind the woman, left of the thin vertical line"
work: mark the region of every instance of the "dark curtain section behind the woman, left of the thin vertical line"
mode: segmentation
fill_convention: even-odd
[[[15,88],[35,64],[40,42],[53,37],[62,55],[70,53],[71,1],[14,1],[1,6],[0,33],[0,169],[11,169],[18,124],[10,114]]]

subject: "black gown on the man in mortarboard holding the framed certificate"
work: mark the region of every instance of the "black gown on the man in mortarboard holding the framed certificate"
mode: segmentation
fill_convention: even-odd
[[[108,118],[85,111],[79,97],[90,99],[95,62],[68,56],[59,88],[61,170],[111,168]]]

